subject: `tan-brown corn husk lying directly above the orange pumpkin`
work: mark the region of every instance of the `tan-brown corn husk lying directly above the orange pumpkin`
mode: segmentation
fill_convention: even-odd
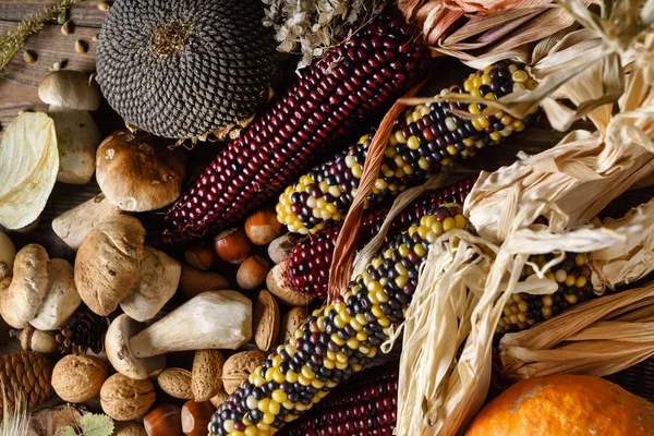
[[[605,376],[654,356],[654,282],[581,304],[529,330],[505,335],[502,373]]]

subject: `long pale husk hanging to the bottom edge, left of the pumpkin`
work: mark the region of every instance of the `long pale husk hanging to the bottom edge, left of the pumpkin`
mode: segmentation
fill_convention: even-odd
[[[562,214],[535,202],[520,215],[537,216],[547,207]],[[520,218],[514,222],[525,220]],[[383,348],[389,350],[403,332],[396,434],[451,435],[476,413],[491,383],[493,336],[507,301],[512,293],[557,289],[545,272],[562,255],[542,269],[530,264],[535,274],[519,281],[530,255],[593,252],[622,244],[638,231],[642,228],[553,232],[544,226],[517,227],[499,246],[465,231],[441,237],[429,249],[407,320]]]

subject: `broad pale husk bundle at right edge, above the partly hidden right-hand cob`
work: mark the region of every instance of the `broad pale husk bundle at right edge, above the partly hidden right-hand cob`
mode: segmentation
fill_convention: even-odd
[[[552,149],[482,172],[464,205],[479,234],[495,243],[504,240],[518,210],[540,201],[565,210],[546,215],[553,225],[576,228],[625,191],[654,183],[653,105],[654,90],[637,68],[627,78],[621,112],[609,119],[604,135],[574,131]],[[514,195],[518,201],[508,202]],[[561,217],[565,221],[557,222]],[[533,222],[535,217],[526,218]]]

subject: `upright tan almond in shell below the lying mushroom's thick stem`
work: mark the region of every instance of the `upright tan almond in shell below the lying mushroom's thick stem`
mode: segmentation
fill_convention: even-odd
[[[220,350],[198,350],[193,359],[191,390],[197,402],[207,401],[222,389],[225,356]]]

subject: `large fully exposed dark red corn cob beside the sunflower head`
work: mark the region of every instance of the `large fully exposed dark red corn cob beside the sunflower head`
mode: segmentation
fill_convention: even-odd
[[[323,147],[416,83],[427,59],[415,28],[397,12],[380,14],[302,70],[298,82],[220,152],[167,214],[164,239],[207,235],[278,195]]]

